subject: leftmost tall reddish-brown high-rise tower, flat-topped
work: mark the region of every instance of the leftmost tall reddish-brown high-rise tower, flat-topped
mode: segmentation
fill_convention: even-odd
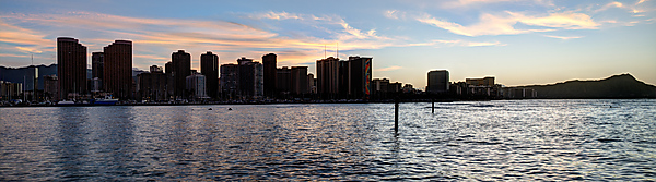
[[[78,39],[57,38],[57,75],[59,98],[74,98],[86,94],[86,47]]]

